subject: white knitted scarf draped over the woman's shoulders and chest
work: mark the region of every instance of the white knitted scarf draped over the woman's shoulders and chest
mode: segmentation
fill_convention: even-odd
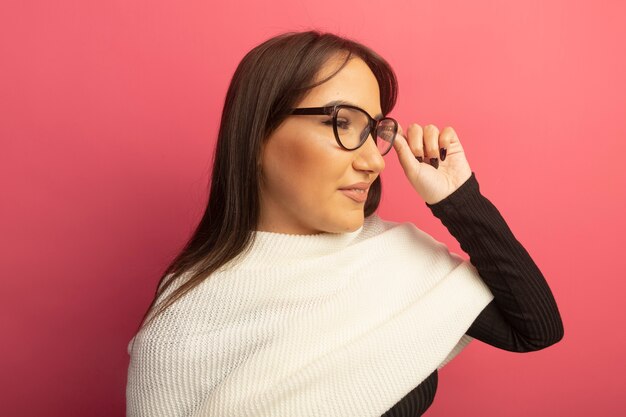
[[[131,341],[129,417],[379,417],[471,341],[493,299],[412,223],[255,236]]]

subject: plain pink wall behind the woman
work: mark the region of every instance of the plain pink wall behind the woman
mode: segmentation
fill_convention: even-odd
[[[544,351],[472,343],[427,415],[624,415],[624,3],[261,3],[2,3],[2,414],[124,414],[126,346],[199,220],[230,77],[317,28],[391,63],[404,127],[455,128],[562,312]],[[466,256],[386,158],[380,215]]]

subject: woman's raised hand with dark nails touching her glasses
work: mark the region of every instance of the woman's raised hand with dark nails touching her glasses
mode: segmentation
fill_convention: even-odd
[[[413,123],[407,136],[398,126],[393,147],[411,185],[428,204],[443,200],[472,175],[459,137],[451,127],[439,133],[437,126],[422,128]],[[440,151],[442,148],[445,151]]]

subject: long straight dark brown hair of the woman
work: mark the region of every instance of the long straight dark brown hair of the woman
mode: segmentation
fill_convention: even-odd
[[[320,68],[339,53],[346,55],[340,68],[310,84]],[[242,59],[226,93],[206,209],[185,247],[163,273],[140,328],[249,248],[259,219],[263,142],[307,91],[332,78],[353,56],[374,73],[382,112],[389,113],[398,91],[394,71],[376,52],[353,40],[316,30],[287,32],[266,40]],[[380,197],[379,176],[370,187],[365,217],[376,211]],[[155,308],[157,300],[183,274],[184,282],[170,289]]]

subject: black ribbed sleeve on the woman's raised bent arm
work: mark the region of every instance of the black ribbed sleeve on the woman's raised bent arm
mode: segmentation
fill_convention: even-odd
[[[563,338],[563,322],[543,274],[498,209],[480,193],[476,175],[428,204],[467,252],[494,295],[467,334],[512,352],[546,348]]]

